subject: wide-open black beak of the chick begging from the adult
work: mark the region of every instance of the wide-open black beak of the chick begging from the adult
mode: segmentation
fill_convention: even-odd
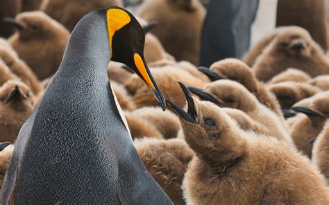
[[[194,105],[194,100],[192,98],[192,93],[189,92],[187,87],[183,82],[178,81],[187,101],[187,112],[172,103],[170,100],[166,100],[167,104],[172,107],[185,121],[189,123],[198,124],[198,116],[196,114],[196,109]]]

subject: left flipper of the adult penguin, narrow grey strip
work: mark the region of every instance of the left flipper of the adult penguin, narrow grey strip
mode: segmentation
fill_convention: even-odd
[[[35,112],[33,112],[33,114],[24,123],[21,130],[19,130],[14,152],[12,152],[12,157],[10,159],[8,170],[6,172],[5,178],[3,179],[0,194],[1,204],[8,204],[10,202],[10,199],[12,198],[12,194],[14,193],[17,175],[21,166],[19,163],[19,159],[22,159],[22,154],[24,153],[25,145],[31,134],[36,110],[37,108],[35,109]]]

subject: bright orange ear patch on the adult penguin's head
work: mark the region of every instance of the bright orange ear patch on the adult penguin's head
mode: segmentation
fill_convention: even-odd
[[[106,12],[106,20],[108,22],[108,37],[110,39],[110,51],[112,53],[112,38],[117,30],[129,24],[130,16],[124,10],[119,8],[110,8]]]

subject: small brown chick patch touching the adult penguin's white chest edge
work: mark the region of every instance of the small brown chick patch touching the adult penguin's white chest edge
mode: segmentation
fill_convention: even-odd
[[[131,114],[130,112],[124,112],[124,117],[126,118],[133,139],[141,139],[144,137],[163,139],[162,134],[149,123],[149,121],[135,114]]]

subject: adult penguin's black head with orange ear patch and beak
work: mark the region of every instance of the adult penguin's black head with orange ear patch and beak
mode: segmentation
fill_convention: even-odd
[[[153,91],[162,109],[165,110],[165,98],[144,60],[145,34],[142,26],[130,12],[119,7],[108,8],[106,20],[112,54],[111,60],[126,64],[139,75]]]

